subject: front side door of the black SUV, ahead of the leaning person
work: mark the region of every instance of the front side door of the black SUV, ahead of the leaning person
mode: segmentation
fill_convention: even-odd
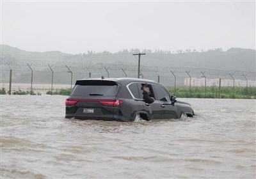
[[[160,85],[153,84],[156,100],[161,106],[161,119],[178,118],[177,105],[171,102],[170,94]]]

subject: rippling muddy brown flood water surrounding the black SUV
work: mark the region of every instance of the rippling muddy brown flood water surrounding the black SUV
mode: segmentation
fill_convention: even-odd
[[[256,178],[256,100],[122,123],[65,119],[65,98],[1,96],[1,178]]]

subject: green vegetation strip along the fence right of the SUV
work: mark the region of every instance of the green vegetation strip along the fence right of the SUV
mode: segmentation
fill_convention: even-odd
[[[168,87],[168,91],[180,98],[256,98],[256,87]],[[220,96],[219,96],[220,95]]]

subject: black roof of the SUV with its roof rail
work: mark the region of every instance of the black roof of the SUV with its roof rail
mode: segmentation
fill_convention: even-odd
[[[87,80],[102,80],[102,81],[115,81],[120,84],[123,83],[130,83],[130,82],[148,82],[148,83],[155,83],[157,84],[156,81],[148,80],[148,79],[137,79],[137,78],[85,78],[85,79],[80,79],[78,81],[87,81]]]

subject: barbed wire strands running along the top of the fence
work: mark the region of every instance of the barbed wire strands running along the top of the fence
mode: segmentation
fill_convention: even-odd
[[[108,64],[108,63],[85,63],[85,62],[72,62],[72,61],[43,61],[43,60],[31,60],[31,59],[17,59],[12,57],[2,57],[0,65],[3,66],[19,66],[19,70],[16,69],[16,71],[29,71],[28,63],[31,64],[32,68],[41,68],[41,70],[35,70],[37,72],[40,71],[49,71],[49,66],[51,65],[54,71],[61,72],[66,71],[66,66],[70,66],[70,69],[76,70],[76,72],[90,72],[99,70],[100,73],[101,70],[104,70],[104,67],[108,68],[109,71],[120,71],[122,74],[122,68],[125,69],[126,72],[137,72],[138,66],[136,65],[123,65],[123,64]],[[26,68],[27,69],[26,69]],[[20,70],[20,68],[23,68],[23,70]],[[26,69],[26,70],[25,70]],[[142,72],[148,72],[148,73],[159,73],[160,75],[163,74],[170,74],[170,72],[174,72],[175,74],[179,74],[180,76],[188,76],[188,74],[194,74],[194,75],[200,75],[202,72],[205,72],[205,75],[207,76],[215,76],[215,77],[221,77],[221,76],[229,76],[229,74],[233,74],[234,76],[241,76],[245,75],[246,77],[254,77],[256,78],[255,72],[244,72],[244,71],[238,71],[238,70],[216,70],[216,69],[209,69],[209,68],[191,68],[191,67],[163,67],[163,66],[141,66]],[[4,70],[3,68],[1,70]],[[188,72],[188,74],[187,74]],[[119,74],[120,74],[119,73]]]

